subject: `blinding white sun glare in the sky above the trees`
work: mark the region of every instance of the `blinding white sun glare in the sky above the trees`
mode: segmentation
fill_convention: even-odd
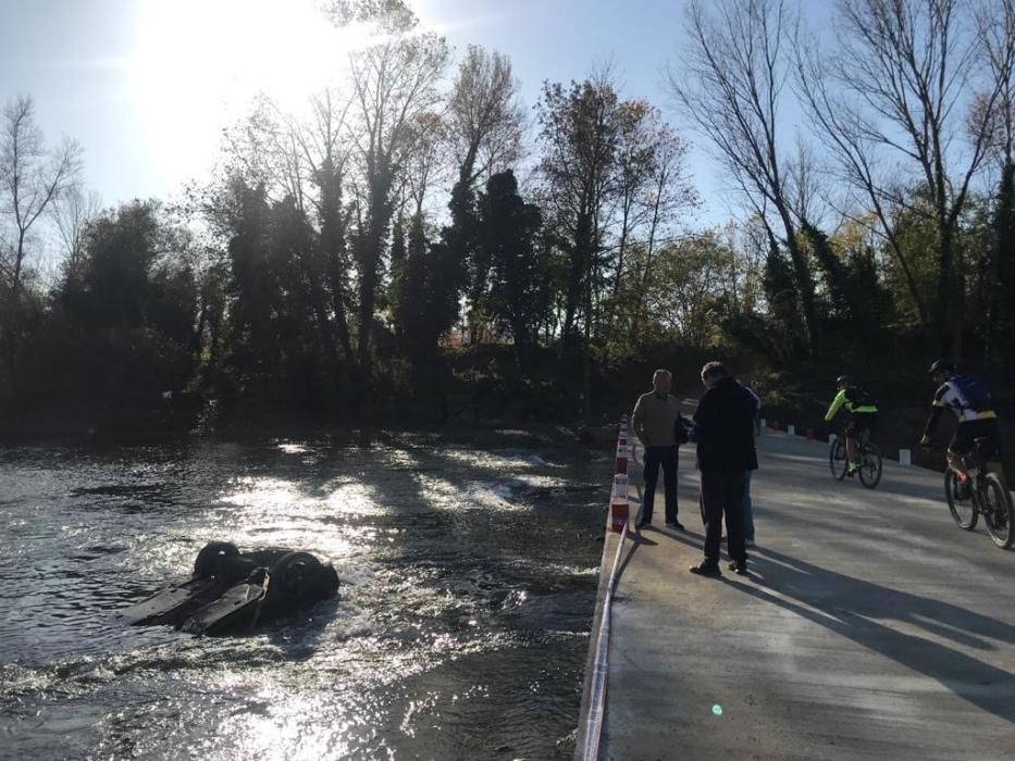
[[[335,82],[362,28],[336,28],[320,0],[147,0],[126,58],[128,99],[163,172],[210,164],[222,128],[267,95],[296,111]]]

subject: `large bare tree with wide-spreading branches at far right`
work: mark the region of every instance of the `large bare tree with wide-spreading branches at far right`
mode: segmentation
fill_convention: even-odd
[[[956,354],[964,290],[956,265],[960,215],[988,154],[1002,83],[1012,66],[1008,50],[994,59],[1000,70],[990,74],[988,32],[976,34],[966,23],[970,9],[960,0],[840,0],[839,50],[824,61],[812,50],[796,67],[812,116],[881,223],[921,324],[932,322],[942,348]],[[1001,14],[989,23],[1007,22]],[[979,110],[970,112],[967,98],[977,84],[986,89],[979,90]],[[964,132],[968,139],[957,139]],[[886,164],[886,158],[893,161]],[[905,177],[931,199],[938,236],[932,320],[892,228],[893,212],[909,205],[912,183],[906,187]]]

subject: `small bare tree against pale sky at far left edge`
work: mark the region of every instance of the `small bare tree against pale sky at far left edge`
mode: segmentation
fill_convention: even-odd
[[[8,285],[16,302],[28,232],[73,186],[81,171],[81,147],[64,138],[55,149],[47,150],[28,96],[8,102],[0,116],[0,213],[13,225]]]

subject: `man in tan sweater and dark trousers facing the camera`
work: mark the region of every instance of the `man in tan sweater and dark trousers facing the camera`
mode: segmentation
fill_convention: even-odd
[[[672,375],[657,370],[652,376],[652,391],[643,394],[631,413],[631,427],[645,449],[642,510],[635,528],[652,524],[652,508],[656,498],[656,482],[663,466],[663,488],[666,495],[666,525],[682,529],[677,520],[677,421],[680,402],[670,395]]]

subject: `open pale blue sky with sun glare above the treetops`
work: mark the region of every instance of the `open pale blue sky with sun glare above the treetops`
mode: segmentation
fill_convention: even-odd
[[[222,128],[257,91],[298,108],[361,41],[319,0],[0,0],[0,103],[30,95],[47,140],[85,149],[84,179],[104,205],[171,198],[208,176]],[[826,0],[814,0],[819,5]],[[507,54],[530,109],[542,83],[611,62],[623,97],[680,129],[663,67],[677,58],[684,0],[410,0],[447,37]],[[794,125],[788,125],[794,128]],[[737,211],[706,146],[691,139],[703,224]]]

